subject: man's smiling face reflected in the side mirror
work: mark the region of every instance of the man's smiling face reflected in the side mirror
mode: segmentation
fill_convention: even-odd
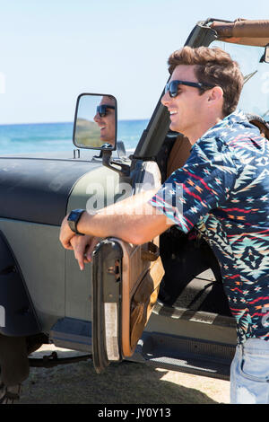
[[[102,97],[100,101],[101,105],[113,106],[115,107],[115,100],[106,95]],[[97,112],[94,116],[94,121],[100,127],[100,140],[103,143],[109,143],[115,145],[115,109],[106,108],[105,116],[100,116],[100,113]]]

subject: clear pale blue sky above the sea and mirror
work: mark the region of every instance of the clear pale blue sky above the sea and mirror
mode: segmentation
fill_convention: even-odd
[[[73,121],[81,92],[149,119],[195,23],[269,19],[268,0],[0,0],[0,124]],[[267,11],[267,13],[266,13]]]

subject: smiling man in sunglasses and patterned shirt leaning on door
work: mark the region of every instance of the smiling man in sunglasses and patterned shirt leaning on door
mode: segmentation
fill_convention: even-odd
[[[187,163],[157,193],[127,198],[96,215],[83,212],[77,230],[89,236],[75,236],[66,216],[60,240],[65,248],[74,249],[82,268],[90,236],[115,236],[140,244],[171,224],[184,233],[196,226],[220,262],[230,311],[237,321],[231,402],[266,403],[269,181],[266,160],[261,158],[268,154],[269,143],[243,113],[235,111],[243,76],[229,54],[220,48],[185,47],[169,57],[169,72],[162,103],[169,110],[170,129],[192,144]],[[180,198],[178,186],[183,189]],[[134,212],[138,204],[143,204],[141,215]]]

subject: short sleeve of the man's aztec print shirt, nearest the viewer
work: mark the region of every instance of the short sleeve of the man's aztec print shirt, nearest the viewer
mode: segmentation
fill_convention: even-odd
[[[197,144],[184,167],[174,171],[149,201],[184,233],[227,201],[237,177],[231,152],[221,141],[206,139],[203,149]]]

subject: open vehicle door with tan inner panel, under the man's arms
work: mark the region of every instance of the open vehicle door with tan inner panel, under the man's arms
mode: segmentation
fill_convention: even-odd
[[[154,162],[138,163],[133,192],[161,185]],[[159,237],[143,245],[102,240],[92,257],[91,338],[98,373],[110,362],[132,356],[157,301],[164,275]]]

